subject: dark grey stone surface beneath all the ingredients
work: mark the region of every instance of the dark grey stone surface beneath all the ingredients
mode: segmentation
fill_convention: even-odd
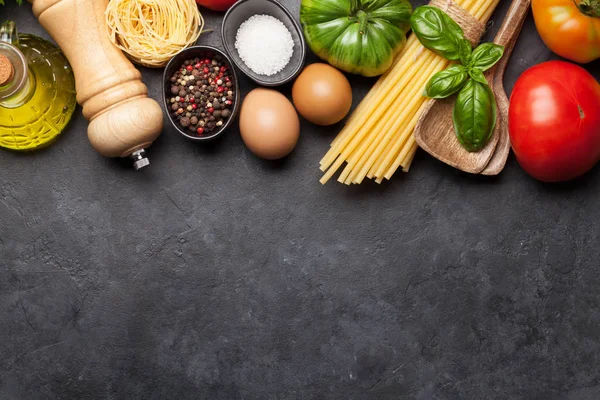
[[[549,58],[528,19],[507,88]],[[0,152],[0,399],[600,398],[597,168],[550,186],[421,152],[322,187],[339,127],[303,122],[277,164],[167,127],[140,172],[85,130],[78,111],[47,150]]]

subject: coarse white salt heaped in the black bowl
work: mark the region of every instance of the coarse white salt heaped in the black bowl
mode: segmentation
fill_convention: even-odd
[[[271,76],[292,59],[294,39],[286,26],[270,15],[253,15],[240,25],[235,48],[254,73]]]

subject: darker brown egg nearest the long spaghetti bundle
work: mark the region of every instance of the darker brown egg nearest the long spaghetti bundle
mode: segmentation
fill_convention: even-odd
[[[329,64],[304,68],[292,89],[296,109],[316,125],[340,122],[352,107],[352,88],[348,79]]]

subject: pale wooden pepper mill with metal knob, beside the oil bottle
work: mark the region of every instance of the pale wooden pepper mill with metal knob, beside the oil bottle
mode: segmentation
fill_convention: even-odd
[[[92,146],[106,157],[132,157],[136,169],[148,165],[145,149],[162,131],[163,112],[148,98],[140,72],[108,39],[109,0],[29,1],[71,63]]]

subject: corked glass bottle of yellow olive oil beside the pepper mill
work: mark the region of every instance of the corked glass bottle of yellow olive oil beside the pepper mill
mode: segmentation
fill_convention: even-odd
[[[69,62],[52,43],[0,25],[0,146],[32,150],[50,144],[76,106]]]

